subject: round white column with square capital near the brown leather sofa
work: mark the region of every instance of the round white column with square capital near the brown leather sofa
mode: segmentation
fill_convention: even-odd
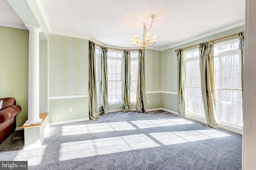
[[[39,32],[38,26],[25,25],[29,30],[28,47],[28,120],[27,125],[40,124],[39,118]]]

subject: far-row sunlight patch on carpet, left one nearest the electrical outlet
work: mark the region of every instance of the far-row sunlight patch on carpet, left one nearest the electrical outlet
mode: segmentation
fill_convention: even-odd
[[[128,122],[96,123],[62,127],[62,136],[136,129]]]

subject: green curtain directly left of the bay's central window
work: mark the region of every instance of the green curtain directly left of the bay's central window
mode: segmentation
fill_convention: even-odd
[[[102,107],[104,113],[101,115],[108,115],[108,48],[101,47],[101,97]]]

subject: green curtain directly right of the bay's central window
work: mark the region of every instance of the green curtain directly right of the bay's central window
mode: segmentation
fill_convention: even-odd
[[[124,50],[124,111],[130,111],[131,55],[130,50]]]

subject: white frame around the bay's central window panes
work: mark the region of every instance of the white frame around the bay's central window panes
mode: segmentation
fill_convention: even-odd
[[[119,105],[119,104],[124,104],[123,102],[123,91],[124,91],[124,82],[123,82],[123,69],[124,69],[124,66],[123,66],[123,51],[119,51],[119,50],[108,50],[108,52],[116,52],[116,53],[122,53],[122,57],[111,57],[111,56],[108,56],[108,60],[112,59],[112,60],[118,60],[118,61],[121,61],[121,83],[122,83],[122,88],[121,88],[121,101],[116,101],[116,102],[110,102],[108,100],[108,103],[110,106],[112,105]],[[108,70],[109,71],[109,70]],[[111,81],[109,78],[108,78],[108,81]],[[109,88],[109,87],[108,87]],[[109,95],[109,94],[108,94]]]

